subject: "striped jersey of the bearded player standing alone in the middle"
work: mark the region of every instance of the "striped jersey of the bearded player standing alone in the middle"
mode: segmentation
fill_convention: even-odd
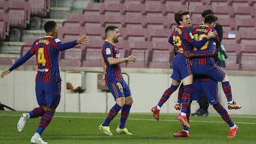
[[[119,48],[117,48],[114,43],[110,43],[108,40],[105,40],[105,43],[102,45],[102,63],[105,67],[106,74],[105,74],[105,82],[114,82],[114,80],[122,81],[122,72],[121,72],[121,65],[115,64],[110,65],[107,61],[108,57],[119,58]]]

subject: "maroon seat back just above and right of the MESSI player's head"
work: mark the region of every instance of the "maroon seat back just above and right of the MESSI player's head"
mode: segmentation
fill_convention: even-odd
[[[215,6],[213,12],[218,18],[234,18],[235,9],[233,6]]]

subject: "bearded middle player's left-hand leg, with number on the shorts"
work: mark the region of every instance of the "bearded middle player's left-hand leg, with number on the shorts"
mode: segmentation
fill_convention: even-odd
[[[122,109],[125,104],[124,91],[122,89],[122,84],[120,82],[112,82],[107,84],[110,89],[111,94],[114,96],[116,104],[110,109],[105,121],[99,126],[100,131],[105,135],[113,135],[110,131],[110,122],[117,116],[117,113]]]

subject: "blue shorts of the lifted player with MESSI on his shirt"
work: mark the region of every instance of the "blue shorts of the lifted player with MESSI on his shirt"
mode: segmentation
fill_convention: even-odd
[[[193,74],[203,74],[217,82],[222,82],[225,77],[225,72],[215,64],[213,58],[209,58],[206,65],[199,65],[196,60],[192,64]]]

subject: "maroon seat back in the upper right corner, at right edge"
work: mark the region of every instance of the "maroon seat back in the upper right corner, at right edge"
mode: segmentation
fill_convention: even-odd
[[[255,18],[255,7],[253,6],[238,6],[235,9],[235,18]]]

